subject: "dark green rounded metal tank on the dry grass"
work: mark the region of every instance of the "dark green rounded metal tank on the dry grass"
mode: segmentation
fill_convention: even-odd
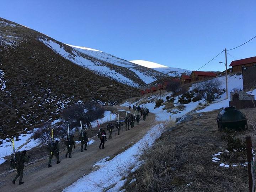
[[[233,129],[237,131],[247,130],[247,119],[239,110],[235,107],[226,107],[220,111],[217,116],[217,123],[219,130]]]

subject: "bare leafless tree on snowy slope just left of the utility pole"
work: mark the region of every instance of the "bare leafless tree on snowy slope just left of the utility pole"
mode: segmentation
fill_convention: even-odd
[[[198,91],[198,94],[210,103],[225,92],[225,90],[220,89],[220,85],[221,83],[219,80],[211,79],[197,83],[195,88]]]

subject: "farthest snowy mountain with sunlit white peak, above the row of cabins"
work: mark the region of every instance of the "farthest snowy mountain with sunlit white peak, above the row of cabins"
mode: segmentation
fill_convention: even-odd
[[[186,75],[190,75],[192,72],[187,69],[168,67],[165,65],[161,65],[159,63],[149,62],[149,61],[145,61],[145,60],[132,60],[130,62],[145,66],[147,68],[154,69],[156,71],[159,71],[159,72],[169,75],[171,77],[180,77],[183,73],[185,73]]]

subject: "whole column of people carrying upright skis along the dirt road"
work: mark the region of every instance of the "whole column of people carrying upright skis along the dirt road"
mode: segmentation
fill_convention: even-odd
[[[131,107],[129,106],[129,110],[130,110],[130,108]],[[117,128],[118,135],[120,134],[120,126],[123,125],[122,122],[125,123],[126,130],[130,130],[130,127],[133,128],[135,126],[134,125],[135,121],[136,121],[137,125],[139,124],[140,116],[143,116],[143,120],[145,121],[146,117],[149,114],[148,108],[133,106],[133,110],[134,110],[134,115],[129,114],[129,116],[125,117],[124,121],[117,121],[116,122],[116,128]],[[108,130],[108,133],[109,133],[108,139],[112,139],[113,129],[114,129],[114,126],[113,126],[112,122],[108,123],[107,124],[107,130]],[[101,149],[101,145],[102,145],[102,149],[104,149],[105,148],[104,144],[105,144],[105,141],[107,140],[107,135],[106,135],[106,132],[105,132],[104,129],[99,130],[98,138],[100,138],[100,140],[101,140],[101,144],[100,144],[99,148]],[[84,150],[87,150],[86,147],[87,147],[87,142],[89,142],[89,139],[87,137],[87,133],[84,130],[82,130],[80,132],[78,141],[81,141],[81,152],[83,152]],[[67,135],[66,140],[65,140],[65,145],[67,147],[67,152],[65,154],[65,157],[66,158],[72,158],[71,153],[72,153],[73,146],[75,148],[75,140],[74,140],[74,135],[73,134],[68,134]],[[60,163],[60,161],[59,161],[59,153],[60,153],[60,151],[59,151],[59,141],[56,140],[55,142],[49,143],[48,150],[50,152],[48,167],[52,167],[51,161],[52,161],[53,156],[56,157],[57,164],[59,164]],[[24,163],[28,162],[28,159],[30,158],[30,156],[26,156],[26,152],[27,152],[26,150],[22,151],[20,161],[17,162],[17,165],[16,165],[17,175],[14,178],[14,180],[12,180],[12,183],[14,185],[15,185],[15,181],[18,177],[20,177],[19,185],[24,183],[24,182],[22,182]]]

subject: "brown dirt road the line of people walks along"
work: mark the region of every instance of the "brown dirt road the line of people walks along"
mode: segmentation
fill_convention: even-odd
[[[120,106],[116,107],[118,109],[125,109]],[[23,181],[25,183],[23,185],[13,185],[11,183],[16,172],[4,176],[1,175],[0,180],[3,184],[0,185],[0,191],[62,191],[83,175],[90,173],[95,162],[107,156],[115,156],[130,145],[136,143],[155,124],[155,115],[149,113],[146,121],[140,121],[139,125],[131,130],[125,131],[125,126],[123,126],[124,129],[121,129],[120,135],[116,134],[115,136],[112,133],[112,139],[107,140],[105,149],[98,148],[100,141],[97,139],[95,143],[88,145],[87,151],[80,152],[80,144],[75,149],[73,148],[71,159],[65,158],[66,150],[64,150],[60,155],[61,163],[58,165],[56,164],[55,158],[52,160],[53,166],[50,168],[48,168],[48,159],[28,165],[24,169]],[[16,183],[18,183],[18,180]]]

